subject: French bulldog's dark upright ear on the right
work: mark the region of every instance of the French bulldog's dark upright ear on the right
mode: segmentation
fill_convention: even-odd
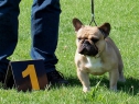
[[[103,33],[104,37],[106,38],[110,33],[110,24],[104,23],[101,26],[98,27],[99,31]]]

